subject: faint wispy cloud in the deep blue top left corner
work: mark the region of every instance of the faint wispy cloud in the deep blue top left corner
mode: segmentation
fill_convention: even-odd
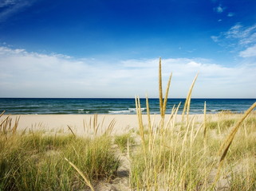
[[[33,0],[3,0],[0,2],[0,8],[2,10],[0,21],[6,21],[7,18],[31,6],[33,2]]]

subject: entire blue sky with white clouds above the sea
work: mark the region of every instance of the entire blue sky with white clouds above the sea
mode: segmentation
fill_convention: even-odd
[[[0,97],[256,98],[255,0],[0,0]]]

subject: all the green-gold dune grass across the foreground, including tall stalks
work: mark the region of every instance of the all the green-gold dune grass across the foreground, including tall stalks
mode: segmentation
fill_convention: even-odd
[[[256,190],[256,103],[244,114],[215,118],[205,103],[199,120],[189,114],[196,75],[178,121],[180,104],[166,115],[171,76],[163,99],[161,60],[159,74],[160,121],[152,119],[148,98],[143,121],[136,97],[138,128],[128,133],[113,136],[114,120],[101,131],[96,115],[84,121],[88,137],[73,127],[69,134],[18,131],[19,119],[0,115],[0,190],[98,190],[99,182],[120,179],[125,153],[132,190]]]

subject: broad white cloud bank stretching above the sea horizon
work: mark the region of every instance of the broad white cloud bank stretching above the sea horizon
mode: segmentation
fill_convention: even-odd
[[[75,59],[0,48],[0,97],[158,96],[158,58]],[[194,97],[255,97],[256,66],[224,67],[197,58],[163,59],[163,83],[173,72],[171,97],[185,97],[199,72]],[[238,77],[239,76],[239,77]]]

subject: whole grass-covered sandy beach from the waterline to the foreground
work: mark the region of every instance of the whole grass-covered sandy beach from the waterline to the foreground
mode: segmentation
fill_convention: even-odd
[[[9,119],[5,125],[2,122],[7,117]],[[156,131],[162,127],[160,115],[150,115],[150,128],[148,115],[141,115],[142,125],[139,123],[138,115],[2,115],[0,123],[3,124],[3,150],[0,152],[0,162],[4,164],[7,160],[10,161],[10,166],[13,166],[10,168],[12,172],[16,172],[15,166],[26,162],[18,175],[11,173],[9,177],[21,176],[31,184],[37,177],[44,177],[49,183],[41,179],[38,183],[40,187],[58,185],[61,189],[66,189],[61,182],[72,182],[77,178],[76,170],[71,169],[75,164],[89,177],[92,185],[83,185],[81,180],[73,181],[75,183],[69,183],[68,189],[89,190],[89,186],[92,186],[92,190],[99,191],[131,188],[145,190],[155,186],[150,182],[157,181],[156,186],[161,188],[175,189],[178,186],[180,190],[185,190],[179,183],[184,180],[191,184],[191,188],[194,188],[194,182],[203,182],[205,185],[196,185],[201,190],[210,189],[211,185],[215,186],[216,190],[229,190],[230,182],[233,182],[234,186],[242,185],[243,188],[249,188],[254,186],[252,178],[255,174],[254,168],[251,168],[255,166],[255,113],[242,123],[232,144],[233,150],[238,150],[238,154],[230,152],[226,160],[232,159],[234,162],[223,167],[225,176],[217,175],[217,150],[241,117],[242,114],[223,112],[206,116],[184,115],[182,120],[182,115],[171,117],[169,114],[165,115],[163,131]],[[14,125],[16,122],[17,131]],[[105,132],[110,136],[102,136]],[[249,149],[245,150],[247,147]],[[174,160],[175,158],[177,160]],[[152,166],[147,166],[148,162],[152,162]],[[151,169],[154,166],[157,166],[156,180],[152,174],[146,174],[151,179],[145,183],[144,172],[154,173]],[[171,169],[171,166],[177,166],[177,169]],[[232,168],[236,173],[230,174],[228,168],[231,166],[234,166]],[[8,170],[5,172],[7,174]],[[30,174],[32,172],[33,175]],[[164,178],[171,184],[166,184],[158,178],[170,172],[171,177]],[[175,174],[179,173],[179,177],[176,178]],[[197,177],[184,179],[185,175],[191,173],[196,173]],[[204,173],[207,174],[207,178]],[[140,177],[134,174],[140,174]],[[240,176],[248,177],[248,181],[243,183]],[[219,179],[218,182],[214,181],[216,177]],[[17,179],[16,184],[25,189],[23,179]],[[9,188],[8,184],[4,186]]]

